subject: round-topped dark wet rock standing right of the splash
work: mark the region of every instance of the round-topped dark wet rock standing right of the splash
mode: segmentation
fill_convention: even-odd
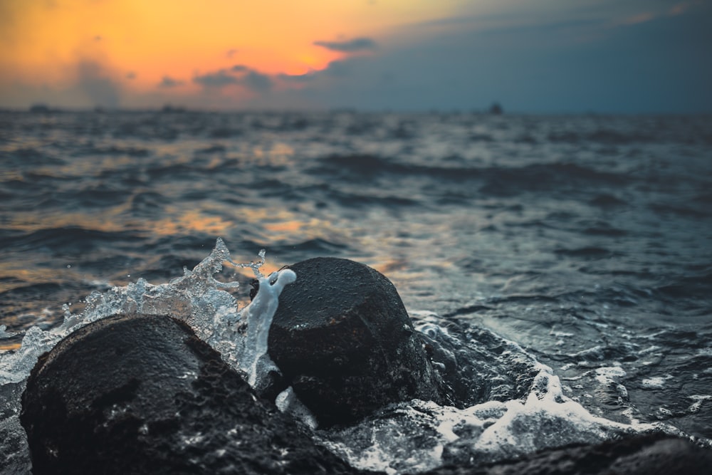
[[[393,284],[347,259],[295,263],[272,320],[269,355],[321,427],[392,402],[441,402],[441,381]]]

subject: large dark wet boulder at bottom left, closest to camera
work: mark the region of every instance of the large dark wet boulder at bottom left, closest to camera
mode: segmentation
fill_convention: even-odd
[[[40,358],[22,406],[35,475],[357,473],[169,317],[75,331]]]

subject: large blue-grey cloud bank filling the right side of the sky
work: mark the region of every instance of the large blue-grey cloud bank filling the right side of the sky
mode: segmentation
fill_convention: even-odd
[[[326,107],[374,110],[484,108],[493,100],[534,113],[712,110],[712,63],[700,47],[712,44],[712,30],[703,26],[712,4],[698,15],[621,28],[608,23],[611,14],[593,13],[535,11],[436,28],[377,55],[332,64],[292,94]],[[341,67],[342,78],[326,74]],[[389,73],[393,80],[384,80]]]

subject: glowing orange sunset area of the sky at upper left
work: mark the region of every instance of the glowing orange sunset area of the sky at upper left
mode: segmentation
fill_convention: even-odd
[[[197,93],[194,78],[235,64],[253,75],[303,75],[370,49],[407,22],[454,8],[429,0],[4,0],[0,6],[0,100],[11,83],[63,88],[95,64],[135,92]],[[247,73],[250,74],[250,73]],[[256,75],[258,74],[258,75]],[[264,81],[262,84],[266,84]],[[282,87],[288,83],[277,83]],[[180,86],[180,87],[175,87]]]

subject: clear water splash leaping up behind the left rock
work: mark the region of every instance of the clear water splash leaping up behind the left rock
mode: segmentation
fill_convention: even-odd
[[[168,283],[152,285],[140,278],[125,287],[95,291],[85,298],[85,307],[80,313],[72,313],[65,305],[61,325],[49,330],[32,327],[23,336],[19,350],[0,353],[0,385],[26,380],[38,357],[78,328],[110,315],[135,312],[171,315],[184,320],[201,339],[218,350],[229,365],[248,376],[252,385],[257,385],[261,377],[258,367],[264,370],[274,367],[266,356],[266,336],[278,296],[284,286],[296,278],[288,269],[263,276],[260,268],[266,261],[264,249],[258,256],[260,259],[256,262],[237,263],[231,259],[224,241],[218,238],[209,256],[192,270],[183,268],[184,275]],[[251,268],[261,284],[256,298],[242,310],[228,292],[240,284],[214,278],[224,263]],[[240,330],[241,324],[244,325]],[[0,338],[13,335],[6,332],[5,327],[0,328]]]

